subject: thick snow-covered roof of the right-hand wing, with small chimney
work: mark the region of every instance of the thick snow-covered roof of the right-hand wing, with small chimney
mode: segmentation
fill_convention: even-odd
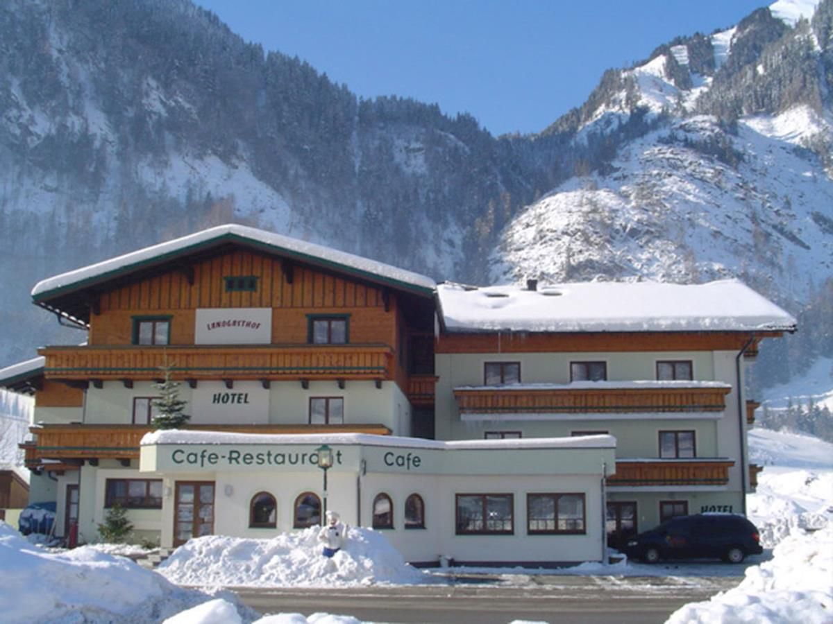
[[[450,332],[792,331],[796,319],[736,280],[437,286]]]

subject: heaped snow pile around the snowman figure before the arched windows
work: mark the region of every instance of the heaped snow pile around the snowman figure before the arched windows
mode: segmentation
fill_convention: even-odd
[[[381,532],[350,527],[347,544],[322,556],[318,527],[272,539],[211,535],[177,548],[157,569],[181,585],[310,587],[415,584],[431,577],[409,566]]]

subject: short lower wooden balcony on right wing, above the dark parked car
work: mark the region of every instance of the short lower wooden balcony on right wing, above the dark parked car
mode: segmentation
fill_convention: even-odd
[[[616,461],[616,474],[607,478],[607,485],[726,485],[731,459],[621,459]]]

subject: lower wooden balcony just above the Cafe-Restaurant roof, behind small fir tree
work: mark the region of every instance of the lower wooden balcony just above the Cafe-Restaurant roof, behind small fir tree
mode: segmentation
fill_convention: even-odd
[[[391,433],[382,424],[189,424],[183,428],[189,431],[271,434]],[[21,444],[21,448],[26,450],[27,468],[66,470],[77,468],[82,460],[137,459],[142,436],[150,430],[147,425],[132,424],[44,424],[30,429],[36,440]]]

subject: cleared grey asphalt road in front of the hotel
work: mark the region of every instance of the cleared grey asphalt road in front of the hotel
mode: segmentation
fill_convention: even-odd
[[[515,584],[462,578],[451,585],[234,590],[263,614],[327,612],[362,622],[623,622],[650,624],[686,602],[706,600],[742,577],[531,576]]]

